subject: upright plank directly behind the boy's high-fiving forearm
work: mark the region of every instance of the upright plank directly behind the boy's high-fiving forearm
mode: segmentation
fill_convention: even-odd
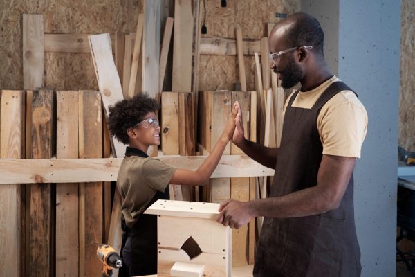
[[[210,151],[212,151],[214,144],[221,136],[230,116],[232,109],[232,93],[230,91],[214,91],[210,92],[210,94],[212,95]],[[226,145],[223,154],[230,154],[230,143]],[[219,203],[226,199],[230,199],[230,179],[211,179],[210,202]]]

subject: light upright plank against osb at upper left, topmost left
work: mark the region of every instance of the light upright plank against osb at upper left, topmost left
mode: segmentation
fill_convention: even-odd
[[[23,88],[44,86],[43,15],[23,15]]]

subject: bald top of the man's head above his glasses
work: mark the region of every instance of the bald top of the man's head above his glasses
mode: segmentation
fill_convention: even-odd
[[[270,40],[273,39],[283,39],[286,48],[313,46],[313,52],[324,57],[322,27],[315,17],[304,12],[297,12],[275,24],[270,33]]]

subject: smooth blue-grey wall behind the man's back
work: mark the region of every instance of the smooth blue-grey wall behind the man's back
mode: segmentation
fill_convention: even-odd
[[[319,19],[331,71],[369,116],[355,169],[362,276],[395,276],[400,1],[301,0],[301,9]]]

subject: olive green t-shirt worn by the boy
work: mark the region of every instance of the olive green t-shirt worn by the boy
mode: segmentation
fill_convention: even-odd
[[[165,191],[176,168],[159,159],[138,156],[124,157],[118,171],[117,187],[125,223],[132,228],[157,190]]]

